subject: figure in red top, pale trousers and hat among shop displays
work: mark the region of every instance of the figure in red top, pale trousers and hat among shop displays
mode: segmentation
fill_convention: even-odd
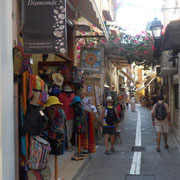
[[[73,120],[74,120],[74,108],[71,106],[75,94],[72,92],[71,87],[65,86],[64,92],[59,94],[59,101],[63,103],[62,108],[66,115],[66,128],[67,128],[67,141],[68,151],[72,150],[72,144],[70,142],[73,134]]]

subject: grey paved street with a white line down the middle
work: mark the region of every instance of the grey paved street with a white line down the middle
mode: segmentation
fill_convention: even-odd
[[[161,141],[161,152],[156,152],[156,133],[148,109],[137,106],[137,112],[128,110],[120,129],[123,144],[116,142],[116,151],[109,156],[100,144],[78,180],[180,180],[180,150],[174,135],[170,131],[168,150]],[[131,151],[135,145],[145,151]]]

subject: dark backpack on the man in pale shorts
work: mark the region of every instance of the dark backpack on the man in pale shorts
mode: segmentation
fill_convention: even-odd
[[[163,121],[167,116],[167,111],[164,103],[157,103],[155,109],[155,117],[159,121]]]

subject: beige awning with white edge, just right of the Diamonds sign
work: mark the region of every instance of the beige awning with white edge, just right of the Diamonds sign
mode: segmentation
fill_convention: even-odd
[[[108,32],[95,0],[67,0],[67,4],[73,8],[73,11],[78,13],[78,16],[83,16],[93,25],[103,30],[108,39]]]

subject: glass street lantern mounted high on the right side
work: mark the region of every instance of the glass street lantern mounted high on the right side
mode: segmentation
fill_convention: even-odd
[[[152,31],[153,37],[155,40],[160,39],[161,38],[161,34],[162,34],[162,23],[160,20],[158,20],[157,18],[154,18],[154,21],[152,21],[150,29]]]

